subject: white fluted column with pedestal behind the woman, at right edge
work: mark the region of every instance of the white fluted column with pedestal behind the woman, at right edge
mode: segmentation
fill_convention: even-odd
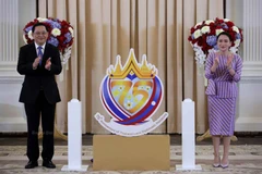
[[[262,1],[230,0],[226,17],[243,29],[239,53],[243,60],[239,83],[236,132],[262,130]]]

